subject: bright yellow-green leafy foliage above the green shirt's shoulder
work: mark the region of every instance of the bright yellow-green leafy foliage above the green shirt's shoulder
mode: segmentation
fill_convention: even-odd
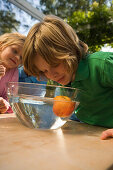
[[[92,52],[99,51],[104,44],[113,47],[113,8],[93,3],[90,11],[75,11],[68,23],[79,38],[88,44]]]

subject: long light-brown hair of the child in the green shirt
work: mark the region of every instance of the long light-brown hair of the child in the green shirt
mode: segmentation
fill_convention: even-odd
[[[88,46],[79,40],[71,26],[59,17],[48,15],[30,29],[22,55],[26,72],[38,77],[40,71],[34,63],[38,55],[51,66],[64,62],[73,73],[87,51]]]

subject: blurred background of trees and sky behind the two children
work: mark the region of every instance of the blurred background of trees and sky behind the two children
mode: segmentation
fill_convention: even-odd
[[[79,38],[88,44],[90,52],[113,51],[113,0],[26,0],[26,2],[37,9],[39,15],[54,14],[68,22]],[[31,26],[41,20],[28,13],[24,7],[22,10],[10,0],[0,0],[0,34],[18,31],[27,35]]]

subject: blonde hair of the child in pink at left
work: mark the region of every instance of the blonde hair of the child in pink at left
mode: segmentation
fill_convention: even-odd
[[[23,47],[26,36],[15,32],[15,33],[5,33],[0,36],[0,51],[11,45],[19,45]]]

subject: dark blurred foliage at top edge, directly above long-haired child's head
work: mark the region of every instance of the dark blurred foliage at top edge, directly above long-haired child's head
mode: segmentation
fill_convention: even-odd
[[[61,18],[71,16],[77,9],[86,10],[90,1],[86,0],[40,0],[44,14],[54,14]]]

